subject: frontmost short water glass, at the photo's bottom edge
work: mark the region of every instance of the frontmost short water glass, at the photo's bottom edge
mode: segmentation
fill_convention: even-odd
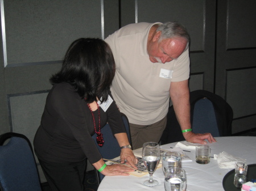
[[[164,175],[164,189],[166,191],[185,191],[187,176],[182,168],[171,167],[166,169]]]

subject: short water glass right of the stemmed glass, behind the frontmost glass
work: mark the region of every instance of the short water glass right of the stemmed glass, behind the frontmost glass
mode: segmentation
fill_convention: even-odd
[[[181,155],[179,152],[170,151],[164,152],[162,160],[163,173],[165,175],[166,170],[171,167],[181,168]]]

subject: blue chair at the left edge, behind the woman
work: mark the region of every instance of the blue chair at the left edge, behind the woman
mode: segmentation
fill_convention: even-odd
[[[10,141],[3,145],[7,139]],[[2,191],[42,190],[31,143],[25,135],[0,136],[0,188]]]

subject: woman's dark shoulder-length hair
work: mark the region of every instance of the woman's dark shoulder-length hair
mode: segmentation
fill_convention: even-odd
[[[77,39],[68,48],[61,70],[52,84],[67,82],[88,103],[106,101],[115,74],[115,62],[108,44],[101,39]]]

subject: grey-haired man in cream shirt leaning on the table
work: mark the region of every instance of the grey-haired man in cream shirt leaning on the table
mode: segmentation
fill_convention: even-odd
[[[105,41],[116,64],[112,95],[129,118],[133,149],[144,142],[159,142],[170,97],[184,138],[215,142],[209,133],[189,131],[189,36],[183,26],[176,22],[129,24]]]

